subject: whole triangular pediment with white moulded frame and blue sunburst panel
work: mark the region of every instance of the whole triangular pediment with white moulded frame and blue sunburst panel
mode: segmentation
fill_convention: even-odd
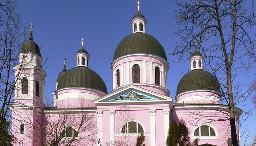
[[[118,102],[172,102],[172,97],[164,96],[134,85],[128,85],[121,90],[114,91],[101,98],[95,99],[97,103],[118,103]]]

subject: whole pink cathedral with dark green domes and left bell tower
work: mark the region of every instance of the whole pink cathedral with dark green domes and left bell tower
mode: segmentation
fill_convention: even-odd
[[[14,67],[15,88],[12,135],[15,146],[58,144],[71,146],[134,146],[140,133],[146,146],[165,146],[169,123],[183,119],[191,141],[199,146],[228,146],[229,108],[221,104],[220,85],[203,70],[203,55],[195,50],[191,71],[177,85],[174,102],[167,90],[166,53],[156,38],[145,33],[146,19],[132,18],[132,34],[124,37],[113,55],[113,90],[89,68],[89,53],[82,46],[76,65],[58,75],[53,106],[44,100],[47,77],[32,31]],[[75,52],[74,52],[75,53]],[[235,108],[237,121],[242,111]],[[237,135],[239,137],[238,122]]]

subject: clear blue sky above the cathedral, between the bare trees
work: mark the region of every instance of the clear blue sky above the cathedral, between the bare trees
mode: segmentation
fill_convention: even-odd
[[[112,91],[111,63],[118,43],[132,33],[130,21],[137,13],[136,0],[26,0],[17,5],[22,23],[29,33],[29,23],[33,23],[33,38],[41,48],[44,60],[48,58],[45,84],[46,98],[52,100],[55,82],[63,69],[64,57],[66,68],[76,66],[75,53],[81,49],[81,39],[84,39],[84,49],[90,55],[89,68],[97,72],[106,83],[108,92]],[[178,37],[174,34],[174,1],[140,0],[140,13],[148,21],[146,33],[154,36],[165,49],[166,54],[175,48]],[[27,36],[28,37],[28,36]],[[27,39],[27,38],[26,38]],[[187,58],[175,63],[175,56],[167,55],[170,64],[168,71],[168,90],[170,97],[175,97],[176,88],[183,73],[190,70]],[[246,80],[255,79],[255,75]],[[246,102],[252,106],[251,100]],[[241,109],[243,109],[241,107]],[[255,110],[254,110],[255,114]],[[240,127],[240,133],[250,124],[251,134],[256,133],[256,117],[250,116]],[[247,142],[251,142],[247,140]],[[244,144],[244,139],[241,139]]]

